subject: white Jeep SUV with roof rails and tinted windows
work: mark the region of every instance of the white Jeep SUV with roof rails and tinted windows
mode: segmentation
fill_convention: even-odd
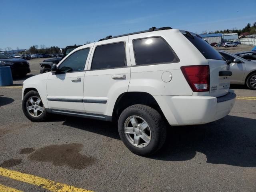
[[[164,144],[168,124],[225,117],[236,97],[231,74],[200,36],[153,27],[76,48],[52,72],[24,81],[22,108],[32,121],[48,113],[118,121],[124,144],[149,155]]]

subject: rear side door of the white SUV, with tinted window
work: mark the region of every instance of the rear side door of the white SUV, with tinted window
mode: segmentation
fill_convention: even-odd
[[[94,44],[84,82],[87,113],[112,116],[118,96],[128,91],[130,65],[128,36]]]

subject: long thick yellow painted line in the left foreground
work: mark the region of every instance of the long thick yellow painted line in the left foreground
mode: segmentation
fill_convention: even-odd
[[[38,176],[26,174],[26,173],[21,173],[14,170],[8,170],[2,167],[0,167],[0,176],[8,177],[8,178],[22,181],[28,184],[40,186],[52,192],[92,192],[90,190],[76,188],[74,186],[62,184],[59,182],[54,182],[52,180],[48,180],[45,178],[41,178]]]

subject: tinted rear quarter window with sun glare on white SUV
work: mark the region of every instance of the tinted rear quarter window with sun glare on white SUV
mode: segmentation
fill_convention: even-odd
[[[133,41],[136,65],[179,62],[167,42],[160,38],[144,38]]]

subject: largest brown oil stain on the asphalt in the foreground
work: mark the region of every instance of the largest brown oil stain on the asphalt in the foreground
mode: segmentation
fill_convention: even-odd
[[[94,164],[95,158],[80,154],[83,144],[50,145],[36,150],[29,159],[38,162],[52,162],[55,166],[68,165],[73,169],[84,169]]]

